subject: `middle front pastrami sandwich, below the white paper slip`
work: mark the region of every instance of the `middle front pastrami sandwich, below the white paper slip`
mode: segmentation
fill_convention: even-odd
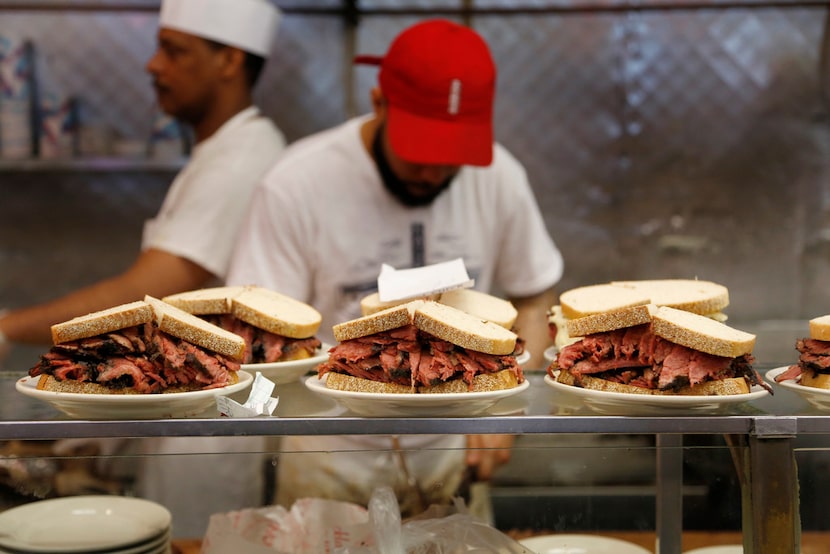
[[[415,300],[333,327],[317,367],[326,386],[382,393],[479,392],[524,381],[515,333],[434,301]]]

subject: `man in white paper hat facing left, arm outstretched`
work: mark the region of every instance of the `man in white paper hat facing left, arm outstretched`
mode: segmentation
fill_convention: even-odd
[[[147,71],[162,110],[194,131],[190,161],[173,181],[157,216],[145,224],[141,253],[132,266],[52,302],[0,313],[0,356],[3,343],[10,341],[51,344],[54,323],[145,294],[161,298],[225,277],[254,186],[285,145],[251,96],[279,17],[267,0],[163,0],[158,50]],[[168,439],[145,444],[165,452],[261,451],[251,439],[204,440],[210,444]],[[171,458],[179,463],[163,469],[153,465],[159,458],[147,458],[138,485],[164,503],[180,502],[186,511],[170,506],[179,533],[200,536],[191,522],[204,526],[212,512],[262,499],[263,466],[257,457],[226,457],[233,467],[166,457]],[[210,478],[198,475],[200,466],[210,466]]]

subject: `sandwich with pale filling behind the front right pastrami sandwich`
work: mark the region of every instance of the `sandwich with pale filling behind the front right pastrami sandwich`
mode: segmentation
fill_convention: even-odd
[[[726,321],[729,291],[723,285],[697,279],[646,279],[611,281],[567,290],[548,312],[548,326],[557,347],[579,339],[567,331],[571,319],[643,304],[668,306]]]

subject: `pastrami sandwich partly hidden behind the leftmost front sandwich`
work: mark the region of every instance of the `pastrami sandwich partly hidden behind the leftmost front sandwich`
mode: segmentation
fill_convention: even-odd
[[[304,302],[257,286],[199,289],[164,297],[245,340],[245,364],[287,362],[316,355],[320,313]]]

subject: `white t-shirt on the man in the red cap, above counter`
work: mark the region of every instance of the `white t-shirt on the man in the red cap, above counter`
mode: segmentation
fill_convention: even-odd
[[[432,205],[404,206],[384,188],[353,119],[290,146],[254,192],[228,273],[308,302],[319,337],[360,316],[381,264],[464,259],[475,288],[532,296],[562,275],[562,257],[519,162],[500,145],[489,167],[464,167]]]

